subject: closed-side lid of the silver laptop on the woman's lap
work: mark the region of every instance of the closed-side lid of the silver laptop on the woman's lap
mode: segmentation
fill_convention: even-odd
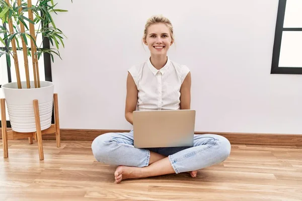
[[[134,147],[193,146],[195,110],[134,111]]]

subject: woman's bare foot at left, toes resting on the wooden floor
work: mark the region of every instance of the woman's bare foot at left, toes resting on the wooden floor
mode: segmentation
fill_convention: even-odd
[[[141,178],[142,171],[141,167],[129,167],[120,165],[116,168],[114,172],[115,183],[119,183],[124,179],[134,179]]]

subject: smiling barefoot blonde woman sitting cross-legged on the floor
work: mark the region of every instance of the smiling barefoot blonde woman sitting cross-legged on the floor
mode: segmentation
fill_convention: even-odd
[[[128,70],[125,118],[133,124],[136,110],[186,110],[191,102],[191,73],[187,66],[167,57],[174,43],[171,22],[163,16],[147,20],[143,43],[150,58]],[[219,135],[194,135],[193,147],[138,149],[133,146],[133,130],[129,133],[107,133],[92,143],[95,158],[117,165],[115,182],[170,173],[189,172],[220,163],[229,157],[230,142]]]

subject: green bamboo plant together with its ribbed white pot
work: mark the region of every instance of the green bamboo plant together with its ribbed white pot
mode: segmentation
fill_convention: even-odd
[[[52,15],[66,11],[55,9],[56,5],[53,0],[37,0],[35,5],[32,0],[0,0],[0,20],[4,25],[0,26],[0,42],[6,47],[6,51],[0,51],[0,57],[6,56],[9,66],[13,58],[17,75],[16,82],[2,85],[2,89],[12,130],[16,132],[36,131],[34,99],[39,103],[41,130],[51,126],[54,84],[40,81],[38,60],[42,54],[50,54],[53,62],[54,55],[60,57],[59,45],[64,47],[65,36],[55,26]],[[38,34],[42,35],[42,42],[49,40],[53,47],[41,48],[42,43],[37,44],[36,40]],[[23,57],[18,58],[17,50],[22,50]],[[30,80],[29,57],[33,80]],[[24,60],[24,66],[19,66],[20,59]],[[20,78],[20,67],[25,68],[26,80]]]

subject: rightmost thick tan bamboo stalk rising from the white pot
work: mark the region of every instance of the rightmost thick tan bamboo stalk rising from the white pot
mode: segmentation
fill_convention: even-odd
[[[27,7],[31,8],[32,7],[32,1],[27,0]],[[33,12],[32,10],[28,10],[28,18],[31,21],[34,21],[33,18]],[[36,41],[36,36],[35,36],[35,26],[32,23],[29,23],[29,32],[30,35],[33,37],[33,39]],[[36,46],[34,44],[34,41],[31,39],[31,52],[32,52],[32,61],[33,61],[33,70],[34,70],[34,83],[35,83],[35,88],[40,87],[40,77],[39,77],[39,66],[37,62],[37,55],[36,55]]]

